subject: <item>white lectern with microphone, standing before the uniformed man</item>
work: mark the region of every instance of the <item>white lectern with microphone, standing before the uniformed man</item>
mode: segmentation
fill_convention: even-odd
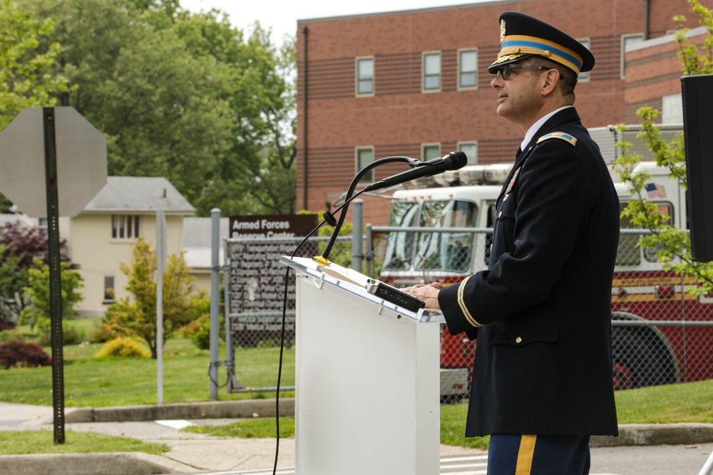
[[[443,315],[280,261],[297,271],[296,474],[439,474]]]

